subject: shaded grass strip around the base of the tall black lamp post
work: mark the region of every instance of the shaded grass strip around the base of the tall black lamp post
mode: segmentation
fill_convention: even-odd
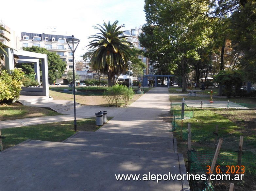
[[[107,117],[110,120],[111,117]],[[101,126],[95,125],[95,117],[77,120],[77,131],[96,131]],[[31,125],[16,128],[1,129],[5,136],[3,141],[4,150],[18,143],[31,140],[62,142],[75,134],[74,121],[63,121],[40,125]]]

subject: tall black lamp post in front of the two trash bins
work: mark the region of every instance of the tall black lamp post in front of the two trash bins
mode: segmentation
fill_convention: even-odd
[[[76,82],[75,82],[75,62],[74,62],[74,53],[77,49],[77,46],[80,42],[79,39],[75,38],[74,35],[72,35],[71,38],[67,38],[66,39],[69,48],[72,51],[72,56],[73,56],[73,94],[74,94],[74,130],[75,132],[77,132],[77,118],[76,118],[76,94],[75,94],[75,86],[76,86]]]

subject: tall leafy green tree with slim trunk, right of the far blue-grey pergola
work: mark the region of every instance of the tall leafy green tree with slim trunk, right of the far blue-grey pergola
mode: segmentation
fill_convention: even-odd
[[[147,24],[143,26],[144,34],[140,42],[147,51],[158,53],[154,59],[167,60],[178,66],[184,92],[189,72],[188,60],[199,60],[197,50],[207,47],[210,41],[209,15],[204,14],[209,5],[202,1],[191,3],[190,0],[145,0],[144,8]],[[159,40],[152,37],[150,46],[143,44],[142,39],[145,36],[150,38],[149,35],[156,35]],[[159,63],[164,62],[168,63]]]

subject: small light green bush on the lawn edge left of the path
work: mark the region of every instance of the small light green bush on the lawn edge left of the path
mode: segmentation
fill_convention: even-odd
[[[125,105],[128,105],[129,101],[133,98],[134,92],[132,89],[128,89],[127,86],[116,84],[109,87],[107,91],[103,93],[103,98],[107,100],[109,106],[113,103],[118,106],[121,98],[125,101]]]

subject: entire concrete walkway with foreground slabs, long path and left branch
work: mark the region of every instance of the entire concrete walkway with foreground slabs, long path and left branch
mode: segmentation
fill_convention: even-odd
[[[113,119],[96,132],[80,131],[63,143],[27,140],[0,152],[1,189],[189,190],[188,181],[172,179],[186,174],[186,168],[176,139],[168,131],[168,88],[153,88],[127,108],[78,107],[77,119],[101,110]],[[16,125],[73,120],[73,112],[20,119]],[[6,122],[1,121],[1,128],[7,128]],[[116,176],[122,174],[140,177],[118,181]],[[165,180],[157,181],[155,176]]]

